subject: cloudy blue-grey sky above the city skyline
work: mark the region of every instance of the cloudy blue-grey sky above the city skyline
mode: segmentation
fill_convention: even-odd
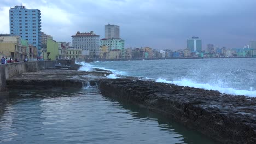
[[[238,48],[256,40],[255,0],[1,0],[0,33],[9,33],[9,9],[41,10],[42,32],[71,42],[77,31],[104,38],[104,25],[120,26],[125,48],[186,49],[197,36],[207,44]]]

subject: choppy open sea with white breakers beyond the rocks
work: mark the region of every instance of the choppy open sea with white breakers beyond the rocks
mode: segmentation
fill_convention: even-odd
[[[256,58],[162,59],[80,64],[83,64],[80,70],[111,70],[113,74],[108,77],[110,79],[117,78],[118,75],[136,76],[156,82],[256,97]]]

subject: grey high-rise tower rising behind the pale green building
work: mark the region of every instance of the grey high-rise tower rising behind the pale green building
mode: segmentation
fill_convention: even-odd
[[[105,39],[119,39],[120,32],[117,25],[105,25]]]

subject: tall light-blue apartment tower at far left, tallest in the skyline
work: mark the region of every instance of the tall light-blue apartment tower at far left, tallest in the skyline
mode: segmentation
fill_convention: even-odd
[[[41,56],[41,12],[39,9],[26,9],[15,6],[9,10],[10,34],[20,35],[29,44],[37,47],[38,58]]]

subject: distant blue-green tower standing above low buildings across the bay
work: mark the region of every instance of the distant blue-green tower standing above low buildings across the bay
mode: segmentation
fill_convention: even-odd
[[[202,51],[202,40],[199,37],[192,37],[187,40],[187,49],[190,52],[199,52]]]

